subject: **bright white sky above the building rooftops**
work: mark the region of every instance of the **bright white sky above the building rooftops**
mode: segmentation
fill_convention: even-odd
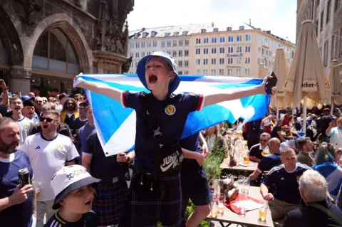
[[[191,23],[242,24],[296,43],[296,0],[135,0],[130,31]]]

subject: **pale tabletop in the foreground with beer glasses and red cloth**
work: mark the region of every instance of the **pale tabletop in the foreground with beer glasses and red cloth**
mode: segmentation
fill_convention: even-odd
[[[263,200],[260,194],[260,188],[255,186],[249,187],[249,196],[254,199]],[[224,207],[223,216],[217,216],[217,218],[211,218],[210,216],[207,220],[218,221],[222,227],[230,226],[231,224],[238,224],[242,226],[266,226],[266,227],[274,227],[273,220],[271,217],[271,211],[268,208],[267,216],[266,216],[266,224],[260,224],[259,221],[259,209],[253,211],[247,211],[246,216],[244,218],[239,217],[237,213],[234,213],[229,208]],[[228,223],[227,226],[224,226],[224,223]]]

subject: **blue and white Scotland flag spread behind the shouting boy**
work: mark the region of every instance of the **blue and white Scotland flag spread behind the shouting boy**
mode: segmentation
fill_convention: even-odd
[[[175,93],[203,95],[222,93],[223,90],[232,88],[261,85],[263,81],[255,78],[202,75],[182,75],[181,78],[182,82]],[[137,75],[78,75],[74,84],[79,80],[105,83],[123,91],[150,92],[142,85]],[[86,95],[93,107],[95,127],[105,155],[110,156],[134,149],[135,110],[124,108],[122,103],[89,90],[86,91]],[[236,122],[239,117],[246,122],[258,120],[266,114],[268,106],[269,95],[254,95],[204,107],[202,111],[188,115],[182,138],[226,120]]]

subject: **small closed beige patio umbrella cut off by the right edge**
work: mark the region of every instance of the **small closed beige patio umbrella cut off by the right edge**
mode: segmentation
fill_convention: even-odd
[[[338,75],[338,61],[332,60],[329,74],[328,74],[328,82],[331,85],[331,89],[329,91],[329,97],[331,97],[331,115],[333,114],[333,104],[334,102],[337,105],[342,104],[342,85],[340,76]]]

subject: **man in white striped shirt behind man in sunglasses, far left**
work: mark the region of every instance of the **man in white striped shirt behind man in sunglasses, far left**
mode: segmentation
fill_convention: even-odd
[[[9,107],[11,107],[11,118],[16,120],[20,130],[20,144],[24,142],[26,137],[34,130],[34,122],[22,114],[23,101],[19,96],[14,96],[9,100]]]

